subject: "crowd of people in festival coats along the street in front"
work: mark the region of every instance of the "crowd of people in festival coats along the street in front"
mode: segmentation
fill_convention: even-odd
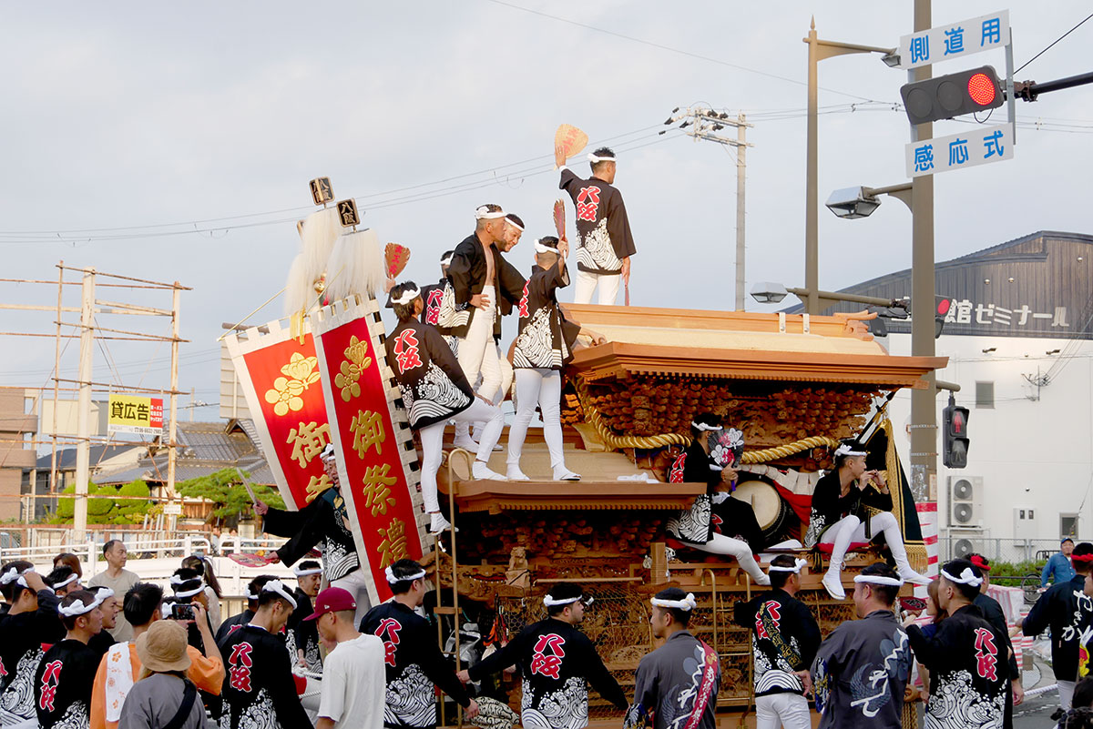
[[[387,567],[393,598],[362,613],[349,590],[320,589],[319,561],[303,560],[296,585],[255,577],[246,610],[221,621],[205,559],[183,560],[165,594],[125,569],[125,545],[108,541],[103,553],[108,567],[86,586],[67,554],[45,576],[25,561],[0,566],[0,726],[430,729],[437,690],[468,719],[487,719],[480,726],[504,726],[508,709],[477,686],[513,667],[525,727],[586,726],[589,686],[625,709],[626,729],[715,726],[720,660],[689,631],[697,601],[679,587],[650,600],[660,645],[642,659],[627,695],[580,630],[593,595],[574,583],[553,584],[543,620],[457,672],[423,612],[430,585],[418,562]],[[1069,557],[1074,577],[1049,588],[1012,630],[1050,631],[1062,726],[1074,728],[1093,718],[1093,679],[1084,679],[1093,545],[1077,545]],[[854,578],[858,620],[826,637],[798,598],[806,566],[775,557],[769,590],[733,606],[734,622],[752,634],[760,729],[811,726],[810,695],[825,728],[901,727],[916,694],[928,727],[1012,726],[1021,673],[1001,607],[986,595],[986,558],[943,565],[929,583],[925,616],[901,611],[905,578],[888,563],[871,564]]]

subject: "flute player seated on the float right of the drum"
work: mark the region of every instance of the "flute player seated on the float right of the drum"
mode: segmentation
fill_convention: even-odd
[[[831,545],[831,563],[823,586],[836,600],[846,599],[843,589],[843,560],[853,542],[872,541],[880,533],[892,552],[900,576],[915,585],[928,585],[907,561],[903,533],[892,514],[892,494],[883,476],[866,470],[866,446],[856,440],[843,441],[835,449],[835,468],[816,481],[812,491],[812,515],[804,546]],[[867,507],[879,513],[863,518]]]

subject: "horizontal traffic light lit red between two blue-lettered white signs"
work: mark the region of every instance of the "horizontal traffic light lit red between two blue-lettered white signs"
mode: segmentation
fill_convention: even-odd
[[[913,124],[986,111],[1006,103],[1001,82],[990,65],[905,84],[900,96]]]

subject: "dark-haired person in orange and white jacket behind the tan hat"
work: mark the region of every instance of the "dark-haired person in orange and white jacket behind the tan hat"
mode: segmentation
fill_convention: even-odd
[[[163,589],[149,583],[138,583],[126,593],[122,609],[126,620],[133,626],[133,637],[128,643],[110,646],[98,665],[91,693],[91,729],[117,729],[121,704],[141,670],[141,661],[133,646],[137,638],[162,618],[162,602]],[[209,630],[204,608],[200,605],[192,607],[196,613],[193,622],[201,634],[204,655],[193,646],[187,646],[190,657],[187,676],[201,691],[219,696],[224,684],[224,661]]]

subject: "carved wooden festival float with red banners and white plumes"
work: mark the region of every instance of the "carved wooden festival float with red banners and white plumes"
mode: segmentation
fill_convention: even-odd
[[[384,275],[375,272],[397,276],[408,252],[396,247],[392,256],[388,246],[385,263],[375,232],[356,230],[352,201],[328,207],[329,181],[312,187],[324,207],[299,226],[303,253],[286,295],[289,323],[233,332],[226,347],[289,507],[329,488],[317,456],[334,443],[373,602],[390,597],[387,565],[402,557],[423,561],[440,587],[439,605],[427,607],[457,658],[468,655],[474,633],[481,649],[540,619],[541,597],[553,583],[580,582],[595,596],[583,630],[623,688],[632,688],[638,661],[655,647],[648,598],[679,585],[698,600],[692,632],[721,657],[718,705],[753,705],[750,633],[732,623],[732,607],[766,588],[752,585],[731,558],[672,543],[665,533],[667,521],[706,490],[666,482],[702,413],[742,431],[732,498],[752,503],[768,545],[802,539],[813,485],[832,467],[838,440],[868,442],[868,468],[885,471],[910,563],[926,571],[884,406],[900,389],[926,386],[924,375],[945,360],[888,354],[869,334],[867,314],[563,304],[569,318],[607,339],[586,342],[563,372],[565,462],[583,479],[550,480],[536,430],[520,462],[530,481],[473,480],[473,455],[449,446],[440,500],[458,531],[437,541],[425,528],[418,450],[384,357],[376,300]],[[504,473],[506,455],[495,453],[491,467]],[[799,597],[826,634],[854,617],[854,606],[849,598],[832,600],[821,586],[824,555],[799,551],[812,564]],[[764,567],[769,558],[761,559]],[[848,594],[857,571],[877,559],[883,559],[878,551],[847,555]],[[465,632],[451,630],[456,624]],[[518,710],[519,681],[501,681],[494,688]],[[589,700],[593,721],[619,717],[595,692]]]

